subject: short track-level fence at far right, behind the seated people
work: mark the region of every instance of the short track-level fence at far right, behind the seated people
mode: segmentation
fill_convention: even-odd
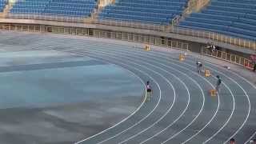
[[[238,56],[236,54],[230,54],[220,50],[210,50],[206,47],[202,47],[201,54],[232,62],[237,65],[244,66],[248,69],[253,69],[254,65],[254,62],[252,62],[248,58],[242,58],[241,56]]]

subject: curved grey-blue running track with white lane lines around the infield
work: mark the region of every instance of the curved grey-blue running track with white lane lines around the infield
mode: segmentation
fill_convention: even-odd
[[[255,120],[255,86],[230,70],[204,62],[213,75],[222,77],[222,89],[213,98],[208,90],[214,88],[216,78],[197,74],[196,58],[192,56],[179,62],[180,52],[176,50],[144,51],[83,41],[85,45],[78,39],[66,43],[62,38],[47,42],[63,42],[72,48],[45,47],[46,50],[97,58],[130,70],[145,82],[153,82],[154,93],[149,102],[117,125],[77,143],[224,143],[233,137],[238,143],[245,143],[254,137],[251,126]]]

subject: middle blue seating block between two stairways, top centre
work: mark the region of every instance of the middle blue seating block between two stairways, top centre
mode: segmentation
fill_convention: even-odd
[[[100,19],[170,24],[176,14],[181,14],[188,0],[118,0],[106,6]]]

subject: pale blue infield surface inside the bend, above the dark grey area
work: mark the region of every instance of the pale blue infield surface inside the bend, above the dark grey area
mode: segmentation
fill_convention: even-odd
[[[125,94],[138,97],[142,93],[139,80],[120,67],[92,58],[82,61],[66,56],[68,62],[65,62],[65,56],[58,53],[54,61],[42,63],[42,55],[42,51],[20,52],[18,57],[15,53],[0,55],[6,57],[0,63],[0,109],[58,106]],[[37,61],[24,65],[28,62],[26,58],[37,57]],[[11,61],[13,58],[21,59],[22,65]]]

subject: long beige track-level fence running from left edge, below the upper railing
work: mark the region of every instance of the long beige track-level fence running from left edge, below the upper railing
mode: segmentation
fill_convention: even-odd
[[[0,23],[0,30],[18,30],[27,32],[54,33],[54,34],[72,34],[79,36],[88,36],[94,38],[110,38],[129,42],[140,42],[146,45],[164,46],[178,50],[189,50],[189,44],[186,42],[174,40],[172,38],[157,37],[147,34],[133,34],[121,31],[97,30],[81,27],[66,26],[42,26],[42,25],[21,25]]]

